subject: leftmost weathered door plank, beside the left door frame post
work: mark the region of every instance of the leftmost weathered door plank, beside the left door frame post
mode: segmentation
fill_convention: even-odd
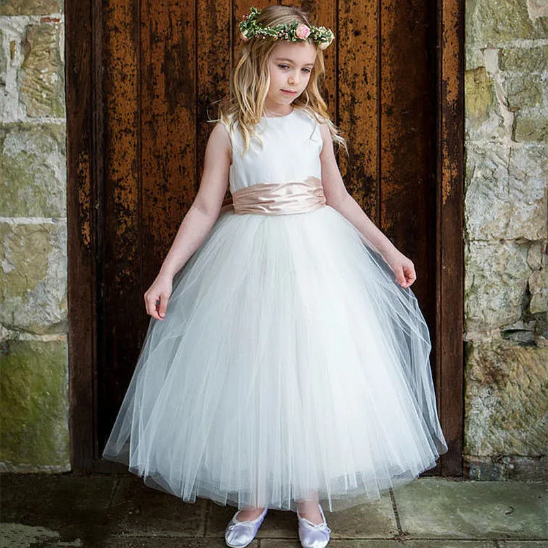
[[[140,344],[138,2],[103,2],[102,223],[98,269],[97,438],[103,447]],[[102,207],[101,207],[102,205]],[[128,328],[128,326],[131,326]],[[96,458],[98,455],[96,454]]]

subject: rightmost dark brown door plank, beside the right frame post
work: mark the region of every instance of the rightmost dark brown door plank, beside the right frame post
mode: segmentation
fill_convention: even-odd
[[[382,3],[381,28],[381,219],[379,227],[413,262],[413,285],[434,328],[435,231],[432,177],[435,161],[435,88],[430,84],[427,4],[418,0]],[[434,64],[435,67],[435,64]]]

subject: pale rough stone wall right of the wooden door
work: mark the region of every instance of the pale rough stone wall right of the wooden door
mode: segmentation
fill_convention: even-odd
[[[464,460],[539,479],[548,447],[548,5],[466,2]]]

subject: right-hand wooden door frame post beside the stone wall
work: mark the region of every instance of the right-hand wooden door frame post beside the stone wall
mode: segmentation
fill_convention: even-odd
[[[462,474],[464,384],[464,1],[438,3],[438,228],[440,412],[449,443],[444,474]]]

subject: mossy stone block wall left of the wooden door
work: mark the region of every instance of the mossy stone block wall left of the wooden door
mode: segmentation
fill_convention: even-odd
[[[0,466],[70,469],[62,0],[0,2]]]

